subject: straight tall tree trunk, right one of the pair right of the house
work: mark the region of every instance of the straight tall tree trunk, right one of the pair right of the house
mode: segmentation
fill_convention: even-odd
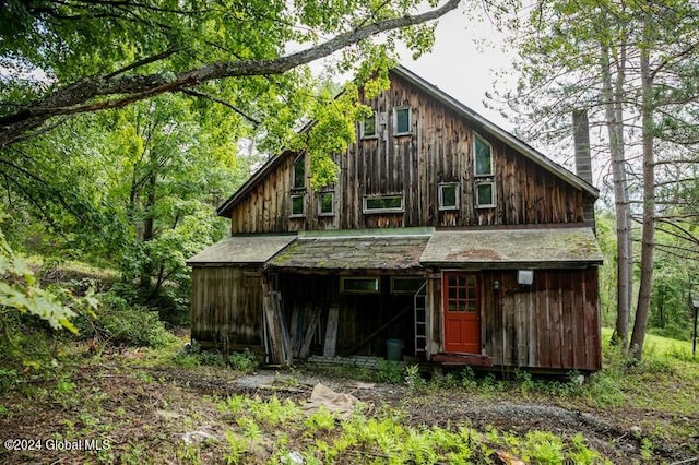
[[[643,354],[645,329],[651,308],[653,285],[653,254],[655,236],[655,163],[653,154],[653,76],[650,69],[649,29],[650,19],[645,19],[643,36],[645,44],[640,48],[641,69],[641,128],[643,141],[643,230],[641,234],[641,279],[636,308],[636,321],[631,334],[630,354],[640,360]]]

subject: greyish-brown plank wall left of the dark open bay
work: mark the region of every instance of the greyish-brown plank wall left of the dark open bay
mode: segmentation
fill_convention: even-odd
[[[221,347],[262,345],[259,269],[192,269],[191,337]]]

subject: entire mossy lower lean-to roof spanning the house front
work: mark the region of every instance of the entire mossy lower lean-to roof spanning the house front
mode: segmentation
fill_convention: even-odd
[[[260,265],[298,272],[587,267],[603,261],[589,227],[395,228],[232,236],[190,266]]]

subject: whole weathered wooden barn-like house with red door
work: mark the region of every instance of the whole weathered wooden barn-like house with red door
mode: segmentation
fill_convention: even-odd
[[[305,154],[285,152],[221,205],[232,236],[189,260],[192,338],[277,362],[388,342],[441,363],[600,369],[591,177],[404,68],[390,78],[336,184],[311,190]]]

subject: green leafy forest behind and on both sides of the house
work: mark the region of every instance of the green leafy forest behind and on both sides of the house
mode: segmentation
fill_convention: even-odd
[[[399,44],[427,52],[433,20],[452,10],[464,21],[487,15],[509,33],[517,88],[494,84],[488,97],[524,140],[570,154],[571,112],[590,117],[603,195],[601,308],[613,342],[640,359],[648,331],[691,337],[689,302],[699,290],[691,2],[0,4],[8,372],[50,368],[50,357],[27,350],[36,334],[60,327],[117,339],[125,327],[186,325],[185,262],[227,234],[215,207],[281,147],[311,155],[313,186],[332,182],[328,154],[352,141],[366,112],[357,88],[387,85]],[[325,72],[311,72],[324,57]],[[353,80],[336,97],[340,75]],[[299,136],[310,120],[317,124]],[[81,266],[110,275],[110,285],[84,273],[56,278]]]

